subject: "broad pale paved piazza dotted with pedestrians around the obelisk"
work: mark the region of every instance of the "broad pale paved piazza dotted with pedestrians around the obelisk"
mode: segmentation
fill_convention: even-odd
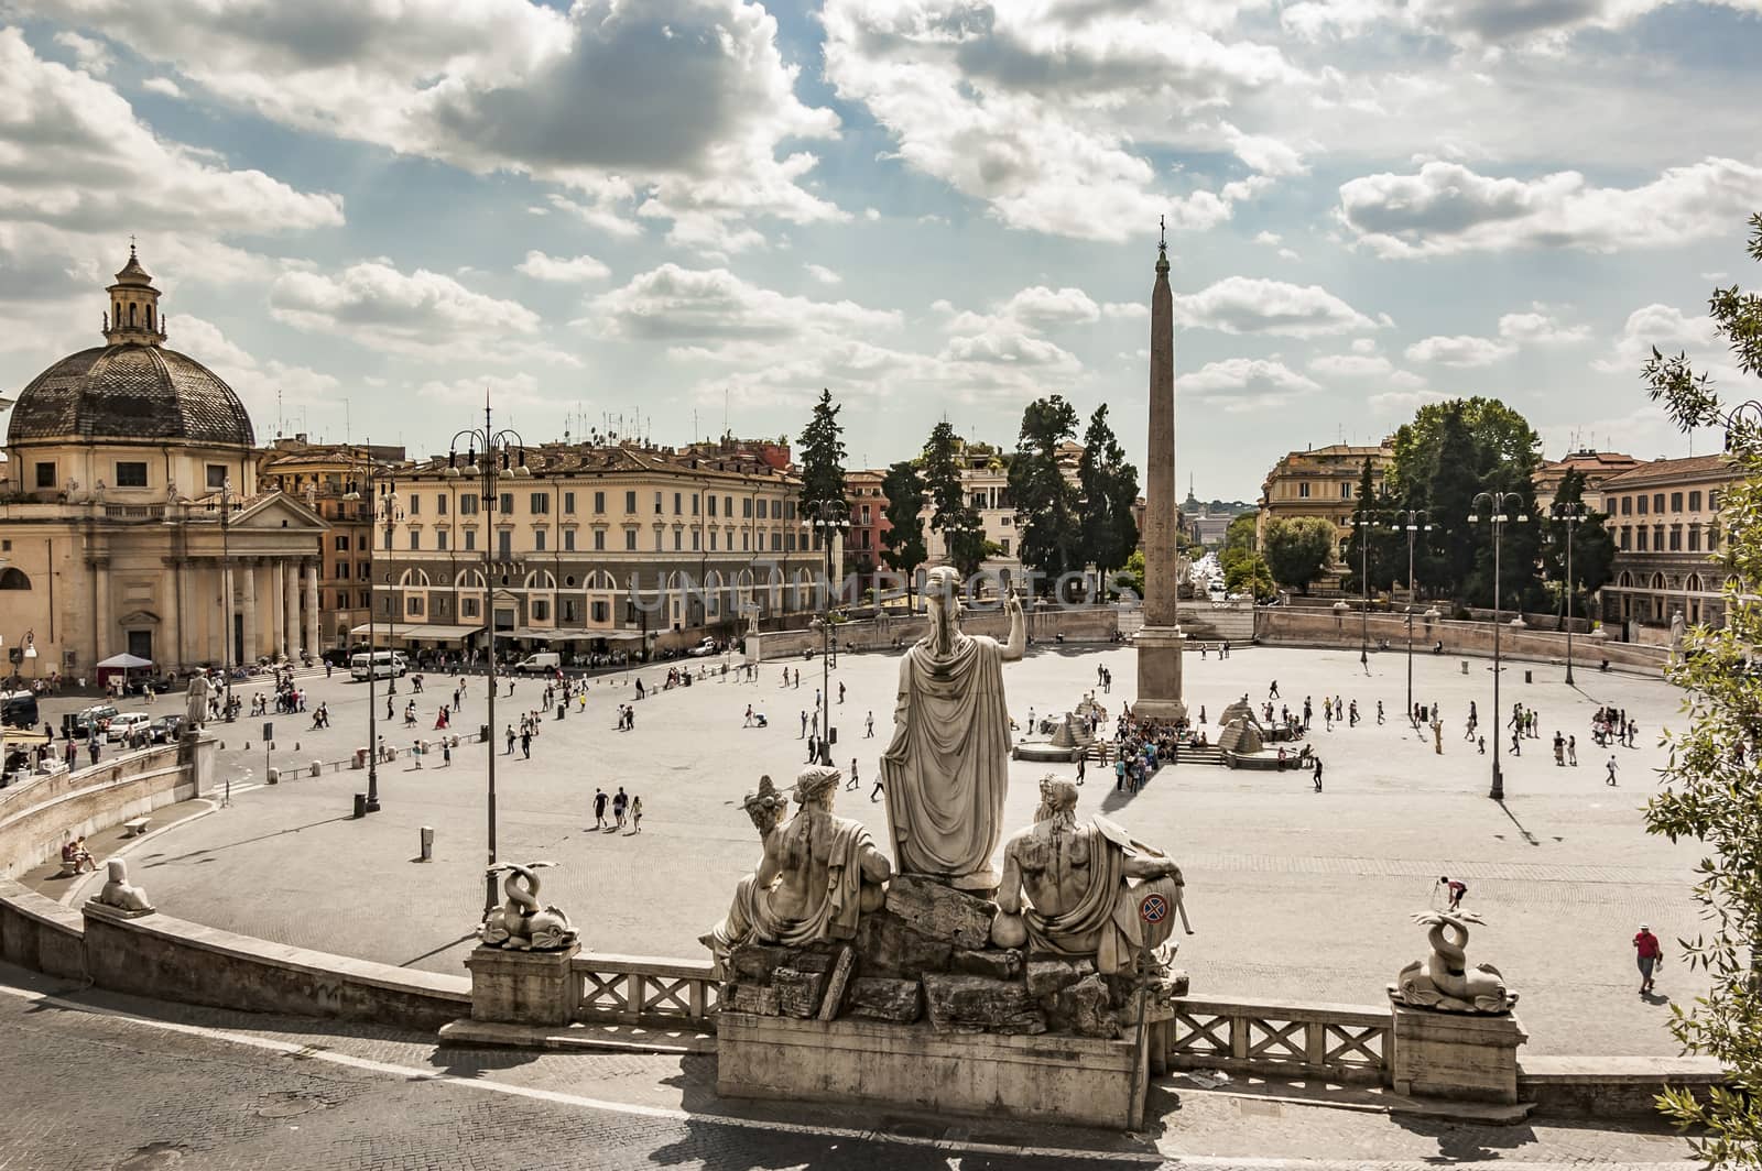
[[[1663,762],[1660,727],[1677,718],[1677,696],[1658,680],[1581,671],[1579,687],[1561,669],[1507,666],[1501,699],[1540,711],[1542,738],[1524,741],[1521,759],[1507,757],[1507,805],[1487,799],[1489,755],[1462,740],[1468,703],[1482,727],[1491,722],[1491,664],[1417,655],[1415,697],[1441,703],[1443,755],[1396,713],[1404,704],[1404,653],[1371,657],[1364,674],[1357,652],[1246,648],[1226,662],[1186,657],[1188,699],[1216,717],[1247,692],[1262,701],[1269,680],[1284,703],[1300,708],[1314,696],[1313,743],[1323,755],[1325,792],[1307,775],[1228,771],[1216,766],[1165,768],[1135,798],[1115,794],[1112,775],[1091,771],[1080,812],[1107,812],[1135,835],[1170,851],[1188,879],[1196,935],[1182,960],[1196,995],[1276,997],[1383,1004],[1383,986],[1424,947],[1408,916],[1434,898],[1438,875],[1470,884],[1466,905],[1487,919],[1470,940],[1470,960],[1498,965],[1521,991],[1519,1014],[1531,1053],[1667,1055],[1663,998],[1637,995],[1632,937],[1649,923],[1665,940],[1658,979],[1665,997],[1702,990],[1681,963],[1677,935],[1695,928],[1688,889],[1699,856],[1693,843],[1670,845],[1640,826],[1640,806]],[[819,685],[819,660],[791,660],[802,687],[781,689],[782,664],[759,669],[758,683],[698,683],[650,696],[636,704],[636,727],[613,731],[613,710],[634,699],[634,676],[594,683],[587,713],[544,718],[532,759],[520,748],[499,755],[499,847],[502,858],[553,859],[543,898],[564,907],[597,951],[654,956],[703,956],[698,935],[726,909],[735,880],[758,858],[758,840],[740,808],[761,773],[779,782],[805,759],[800,711]],[[863,819],[885,840],[881,803],[869,801],[877,759],[892,729],[897,657],[848,655],[833,673],[846,703],[833,703],[839,764],[856,757],[862,787],[840,792],[837,810]],[[1004,667],[1010,711],[1047,713],[1075,704],[1094,687],[1096,667],[1115,674],[1117,708],[1131,699],[1133,653],[1124,648],[1033,648]],[[1524,683],[1533,673],[1535,681]],[[659,683],[663,666],[641,671]],[[366,687],[322,674],[307,676],[312,704],[329,701],[335,729],[314,734],[308,717],[273,717],[273,762],[340,759],[366,743]],[[506,689],[506,683],[504,683]],[[1323,689],[1359,701],[1366,720],[1323,729]],[[418,697],[421,734],[433,724],[451,683],[428,676]],[[516,683],[499,699],[506,725],[522,704],[537,706],[541,685]],[[382,694],[382,692],[381,692]],[[411,696],[400,683],[396,708]],[[1378,727],[1376,703],[1390,722]],[[157,706],[169,710],[173,699]],[[181,703],[181,701],[176,701]],[[744,729],[747,704],[770,717],[768,729]],[[1639,748],[1598,750],[1589,741],[1591,711],[1623,706],[1639,718]],[[381,704],[384,699],[381,697]],[[51,711],[56,708],[51,708]],[[876,713],[876,738],[862,736],[865,711]],[[384,708],[381,706],[381,715]],[[485,683],[472,678],[463,718],[476,729],[485,715]],[[58,718],[58,717],[51,717]],[[384,727],[393,743],[414,733]],[[1554,729],[1579,738],[1579,768],[1556,768]],[[227,741],[222,770],[254,782],[264,775],[261,720],[220,725]],[[243,740],[250,738],[250,750]],[[301,741],[298,754],[294,741]],[[495,750],[502,750],[497,740]],[[1603,784],[1603,762],[1619,759],[1619,787]],[[455,752],[453,768],[439,755],[412,770],[407,759],[384,766],[384,810],[349,817],[351,794],[365,789],[365,771],[298,777],[278,787],[243,787],[231,808],[148,838],[134,851],[136,880],[160,910],[199,923],[287,944],[366,956],[435,972],[463,972],[470,928],[483,903],[485,748]],[[1011,762],[1006,826],[1027,824],[1036,778],[1048,766]],[[1068,768],[1068,766],[1059,766]],[[643,798],[636,836],[594,831],[594,787],[624,785]],[[437,831],[435,861],[412,861],[418,831]],[[69,891],[72,895],[72,891]]]

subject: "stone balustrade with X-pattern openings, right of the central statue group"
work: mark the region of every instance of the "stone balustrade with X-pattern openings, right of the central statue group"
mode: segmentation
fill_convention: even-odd
[[[1366,1004],[1179,997],[1163,1034],[1172,1069],[1388,1079],[1390,1014]]]

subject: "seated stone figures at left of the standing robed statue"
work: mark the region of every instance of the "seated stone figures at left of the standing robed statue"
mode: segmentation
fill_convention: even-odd
[[[765,854],[758,870],[740,879],[728,916],[701,937],[719,967],[735,947],[751,942],[803,947],[851,939],[858,916],[881,907],[881,884],[893,866],[862,822],[833,817],[840,778],[835,768],[803,768],[795,782],[796,812],[788,822],[789,799],[770,777],[747,794],[747,817]]]

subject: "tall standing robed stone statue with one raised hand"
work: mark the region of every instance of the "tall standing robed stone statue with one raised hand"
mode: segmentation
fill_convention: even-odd
[[[1010,787],[1003,664],[1027,650],[1027,620],[1011,593],[1008,643],[962,634],[960,574],[948,565],[930,571],[925,602],[930,632],[899,664],[893,741],[881,755],[893,858],[900,873],[988,893]]]

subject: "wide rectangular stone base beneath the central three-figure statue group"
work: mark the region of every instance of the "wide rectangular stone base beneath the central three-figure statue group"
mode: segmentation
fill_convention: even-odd
[[[717,1014],[715,1092],[1135,1130],[1136,1039],[939,1034],[927,1025]]]

